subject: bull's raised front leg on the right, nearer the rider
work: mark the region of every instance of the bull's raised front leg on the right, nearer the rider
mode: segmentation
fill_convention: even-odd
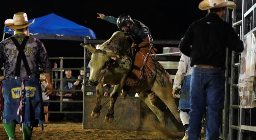
[[[114,104],[116,103],[116,99],[125,84],[126,76],[122,77],[121,82],[115,85],[113,91],[110,94],[110,106],[108,108],[108,113],[105,116],[104,121],[107,123],[112,123],[114,120]]]

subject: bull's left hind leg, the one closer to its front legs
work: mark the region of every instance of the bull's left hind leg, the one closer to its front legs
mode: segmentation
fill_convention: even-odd
[[[146,94],[144,92],[140,92],[140,93],[138,93],[138,95],[139,95],[140,99],[143,100],[143,102],[148,105],[148,107],[151,109],[151,111],[153,111],[154,114],[157,115],[157,118],[160,121],[160,124],[162,126],[166,127],[164,112],[161,111],[157,106],[153,106],[151,104],[151,101],[149,100],[150,95]]]

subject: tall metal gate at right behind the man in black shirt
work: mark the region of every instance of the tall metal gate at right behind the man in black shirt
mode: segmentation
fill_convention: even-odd
[[[237,9],[229,9],[227,11],[227,21],[233,23],[234,30],[239,35],[240,39],[244,41],[246,36],[253,34],[256,30],[256,20],[254,20],[256,14],[254,10],[256,8],[256,0],[234,0],[234,3],[236,3]],[[245,44],[245,48],[246,47],[251,46],[246,46]],[[225,107],[223,111],[223,123],[220,129],[221,136],[219,137],[222,140],[256,139],[256,108],[243,107],[244,102],[241,102],[241,99],[244,93],[239,90],[241,86],[244,86],[239,82],[244,76],[244,74],[241,73],[243,67],[241,64],[244,63],[246,63],[246,60],[241,59],[241,53],[227,50]],[[254,71],[252,72],[254,75]],[[252,82],[247,86],[254,88]],[[247,93],[249,95],[249,91]]]

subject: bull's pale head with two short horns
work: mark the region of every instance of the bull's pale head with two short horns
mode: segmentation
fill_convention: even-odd
[[[100,49],[95,49],[93,46],[84,43],[81,43],[81,46],[90,51],[92,54],[90,62],[90,77],[88,82],[91,86],[97,86],[108,69],[110,58],[122,58],[122,56],[115,52],[107,52]]]

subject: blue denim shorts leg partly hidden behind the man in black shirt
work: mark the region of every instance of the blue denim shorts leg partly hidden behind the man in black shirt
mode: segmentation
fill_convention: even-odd
[[[189,97],[190,79],[191,79],[191,75],[184,76],[183,85],[181,87],[178,109],[190,109],[190,97]]]

